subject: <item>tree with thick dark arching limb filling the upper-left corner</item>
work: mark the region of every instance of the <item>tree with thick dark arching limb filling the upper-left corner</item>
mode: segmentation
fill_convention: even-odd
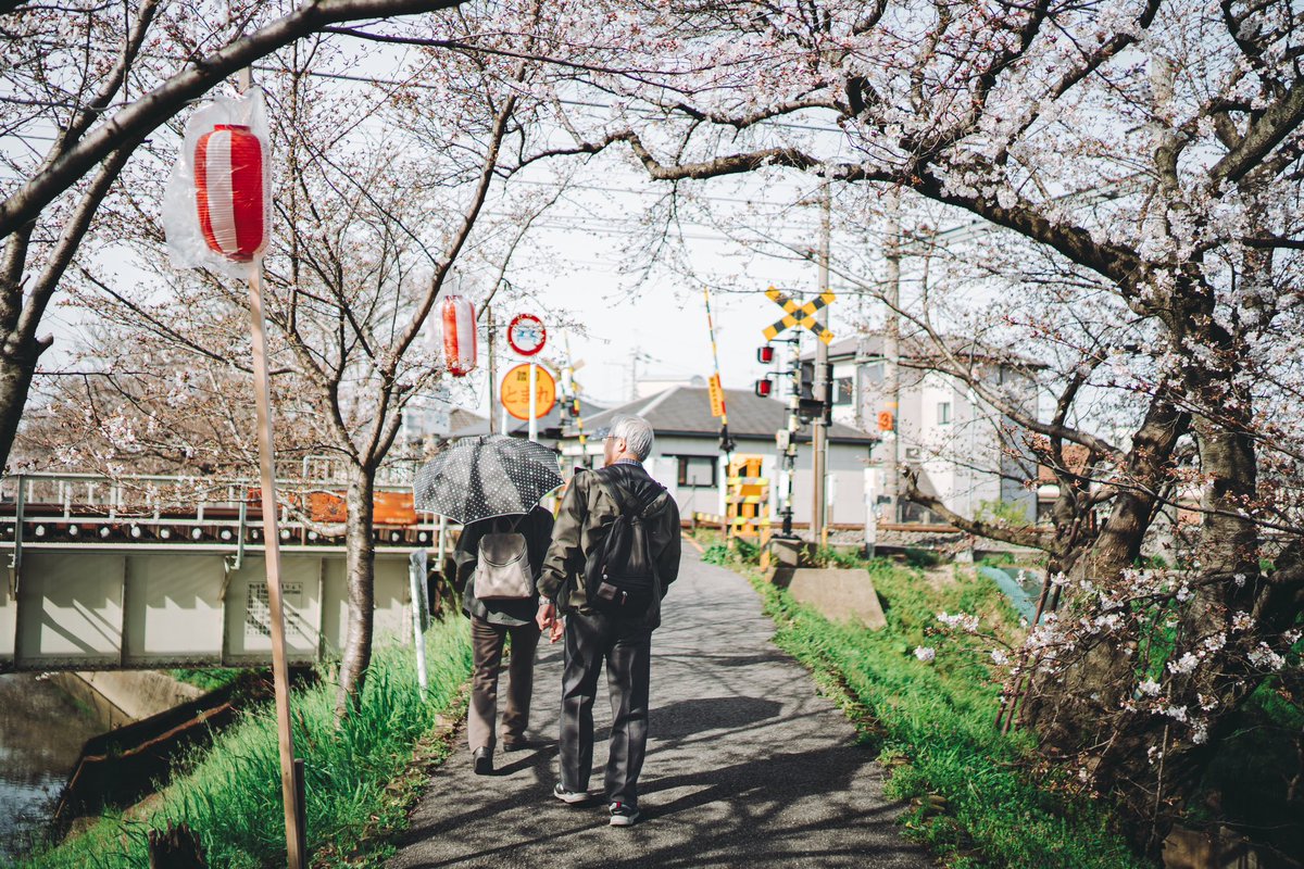
[[[322,29],[456,0],[0,3],[0,465],[52,336],[42,321],[143,142]]]

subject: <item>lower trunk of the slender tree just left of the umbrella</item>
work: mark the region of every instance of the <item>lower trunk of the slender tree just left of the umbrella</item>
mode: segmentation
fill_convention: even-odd
[[[348,582],[348,633],[339,664],[339,693],[335,715],[344,718],[363,694],[366,668],[372,663],[372,632],[376,621],[376,538],[372,528],[376,472],[370,468],[349,470],[344,521]]]

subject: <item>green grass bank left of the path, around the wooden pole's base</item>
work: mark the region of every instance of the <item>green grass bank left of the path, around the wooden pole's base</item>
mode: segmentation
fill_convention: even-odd
[[[386,834],[406,825],[415,799],[413,757],[442,757],[429,737],[455,714],[471,671],[467,623],[436,623],[426,634],[429,689],[422,698],[409,648],[378,648],[356,715],[336,727],[329,675],[296,691],[296,753],[305,762],[308,844],[314,865],[379,865],[393,851]],[[270,704],[248,711],[210,749],[185,763],[143,818],[107,814],[85,834],[27,861],[22,869],[147,866],[146,835],[184,821],[203,843],[210,866],[284,865],[284,822],[276,722]]]

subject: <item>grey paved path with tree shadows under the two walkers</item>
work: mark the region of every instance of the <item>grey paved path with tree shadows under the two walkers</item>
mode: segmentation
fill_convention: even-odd
[[[606,825],[605,803],[563,805],[557,776],[561,645],[540,645],[531,730],[545,747],[501,754],[494,776],[460,750],[436,773],[393,869],[432,866],[872,866],[923,869],[883,796],[883,773],[810,674],[769,641],[773,624],[732,571],[685,547],[652,634],[652,710],[642,822]],[[606,762],[600,685],[591,787]]]

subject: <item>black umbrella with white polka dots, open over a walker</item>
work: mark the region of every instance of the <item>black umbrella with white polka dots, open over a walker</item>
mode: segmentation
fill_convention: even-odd
[[[505,435],[462,438],[445,447],[416,474],[417,509],[472,522],[528,512],[562,485],[557,453]]]

